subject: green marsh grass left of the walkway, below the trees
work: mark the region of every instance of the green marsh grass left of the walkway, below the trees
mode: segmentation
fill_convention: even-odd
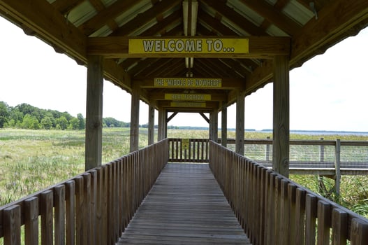
[[[84,130],[1,129],[0,206],[84,172],[84,137]],[[140,147],[146,145],[142,130]],[[103,129],[102,162],[128,151],[128,128]]]

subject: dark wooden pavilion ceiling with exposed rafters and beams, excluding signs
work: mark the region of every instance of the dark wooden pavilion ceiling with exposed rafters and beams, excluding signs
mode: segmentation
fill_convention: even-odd
[[[184,6],[191,9],[197,4],[184,17]],[[0,15],[80,65],[87,64],[89,55],[103,55],[105,79],[128,92],[138,85],[140,99],[156,109],[170,108],[165,93],[212,94],[204,109],[170,108],[207,112],[221,109],[221,102],[232,104],[238,92],[251,94],[272,82],[274,55],[288,55],[293,69],[358,34],[368,25],[368,1],[0,0]],[[140,57],[126,52],[129,38],[184,36],[251,38],[252,52],[193,55],[192,67],[180,55]],[[221,78],[222,87],[189,90],[153,85],[154,78],[190,74]]]

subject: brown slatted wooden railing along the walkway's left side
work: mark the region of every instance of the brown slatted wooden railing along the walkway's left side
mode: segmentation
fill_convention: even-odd
[[[167,162],[165,139],[0,207],[0,240],[115,244]]]

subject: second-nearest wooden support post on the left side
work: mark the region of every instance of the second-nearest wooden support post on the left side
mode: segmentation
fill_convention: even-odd
[[[131,148],[130,152],[139,149],[139,101],[140,90],[138,83],[133,84],[131,92]]]

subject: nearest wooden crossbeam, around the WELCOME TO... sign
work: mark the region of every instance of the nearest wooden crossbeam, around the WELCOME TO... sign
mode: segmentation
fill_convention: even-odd
[[[129,54],[128,53],[128,36],[105,36],[88,38],[87,52],[89,55],[103,55],[106,58],[121,57],[187,57],[188,53],[147,53],[147,54]],[[170,38],[177,39],[177,36],[159,38],[156,36],[141,37],[147,40],[168,40]],[[202,39],[200,36],[191,36],[191,40]],[[218,39],[219,36],[206,37]],[[226,37],[221,37],[226,38]],[[290,54],[290,38],[278,36],[239,36],[237,38],[249,39],[248,54],[232,54],[233,58],[272,58],[274,55]],[[131,38],[137,39],[137,38]],[[221,53],[193,53],[191,57],[229,57],[227,52]]]

